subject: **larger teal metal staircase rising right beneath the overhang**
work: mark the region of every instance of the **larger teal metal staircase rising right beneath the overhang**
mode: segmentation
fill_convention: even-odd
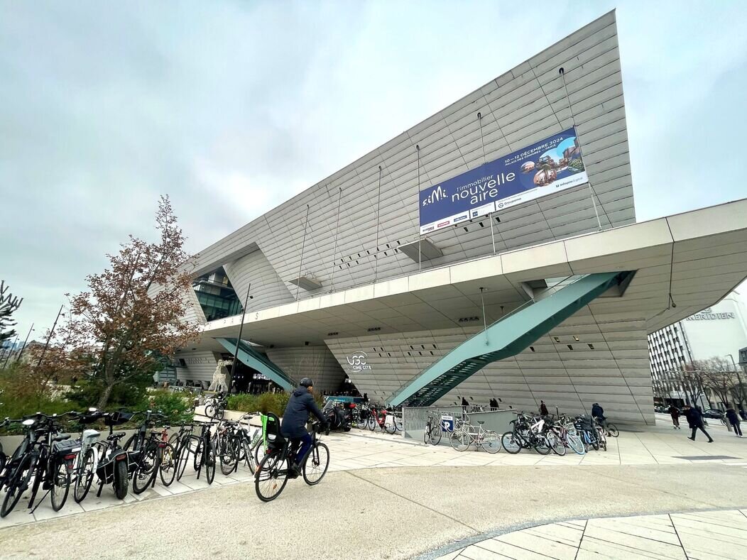
[[[583,276],[545,299],[530,302],[456,346],[388,399],[392,406],[430,406],[486,365],[517,355],[611,287],[634,273]]]

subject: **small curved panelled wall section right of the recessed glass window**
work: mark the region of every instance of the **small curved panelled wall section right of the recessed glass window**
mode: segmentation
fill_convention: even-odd
[[[267,261],[261,250],[257,249],[249,255],[223,265],[223,270],[231,281],[241,305],[247,297],[247,287],[251,282],[247,313],[258,309],[267,309],[276,305],[283,305],[295,301],[288,287],[276,273],[270,261]]]

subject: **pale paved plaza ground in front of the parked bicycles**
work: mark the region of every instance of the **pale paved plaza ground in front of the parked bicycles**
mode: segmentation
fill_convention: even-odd
[[[116,551],[105,538],[96,539],[82,558],[161,558],[173,547],[183,548],[182,558],[204,558],[205,550],[215,550],[217,558],[564,559],[576,557],[568,556],[573,547],[577,558],[634,558],[625,556],[626,547],[641,546],[636,539],[650,537],[647,531],[657,523],[666,526],[661,520],[672,514],[671,526],[658,530],[666,533],[659,541],[672,547],[666,553],[675,556],[658,557],[684,558],[676,556],[684,553],[667,536],[683,523],[684,535],[686,523],[694,524],[692,531],[707,533],[717,544],[719,531],[725,531],[719,523],[726,523],[717,516],[727,516],[733,525],[728,546],[740,547],[747,538],[747,528],[734,517],[747,509],[747,438],[722,426],[710,429],[713,444],[692,442],[685,430],[662,422],[621,432],[610,438],[607,452],[563,457],[457,452],[379,432],[332,433],[324,438],[332,460],[322,484],[310,488],[291,481],[273,503],[259,502],[247,470],[229,477],[217,470],[208,486],[188,468],[181,482],[168,488],[157,483],[140,496],[128,494],[124,503],[108,487],[81,505],[70,497],[57,514],[49,499],[34,515],[19,503],[0,520],[0,540],[8,544],[8,558],[48,557],[58,541],[77,546],[73,529],[81,527],[102,536],[132,535]],[[694,513],[725,509],[731,513]],[[621,515],[644,517],[610,519]],[[574,527],[581,523],[593,531],[581,529],[586,536],[576,542]],[[610,523],[624,530],[610,529]],[[541,535],[545,541],[559,536],[533,542]],[[691,554],[686,540],[681,544],[687,557],[706,557]],[[729,547],[714,551],[735,558]]]

